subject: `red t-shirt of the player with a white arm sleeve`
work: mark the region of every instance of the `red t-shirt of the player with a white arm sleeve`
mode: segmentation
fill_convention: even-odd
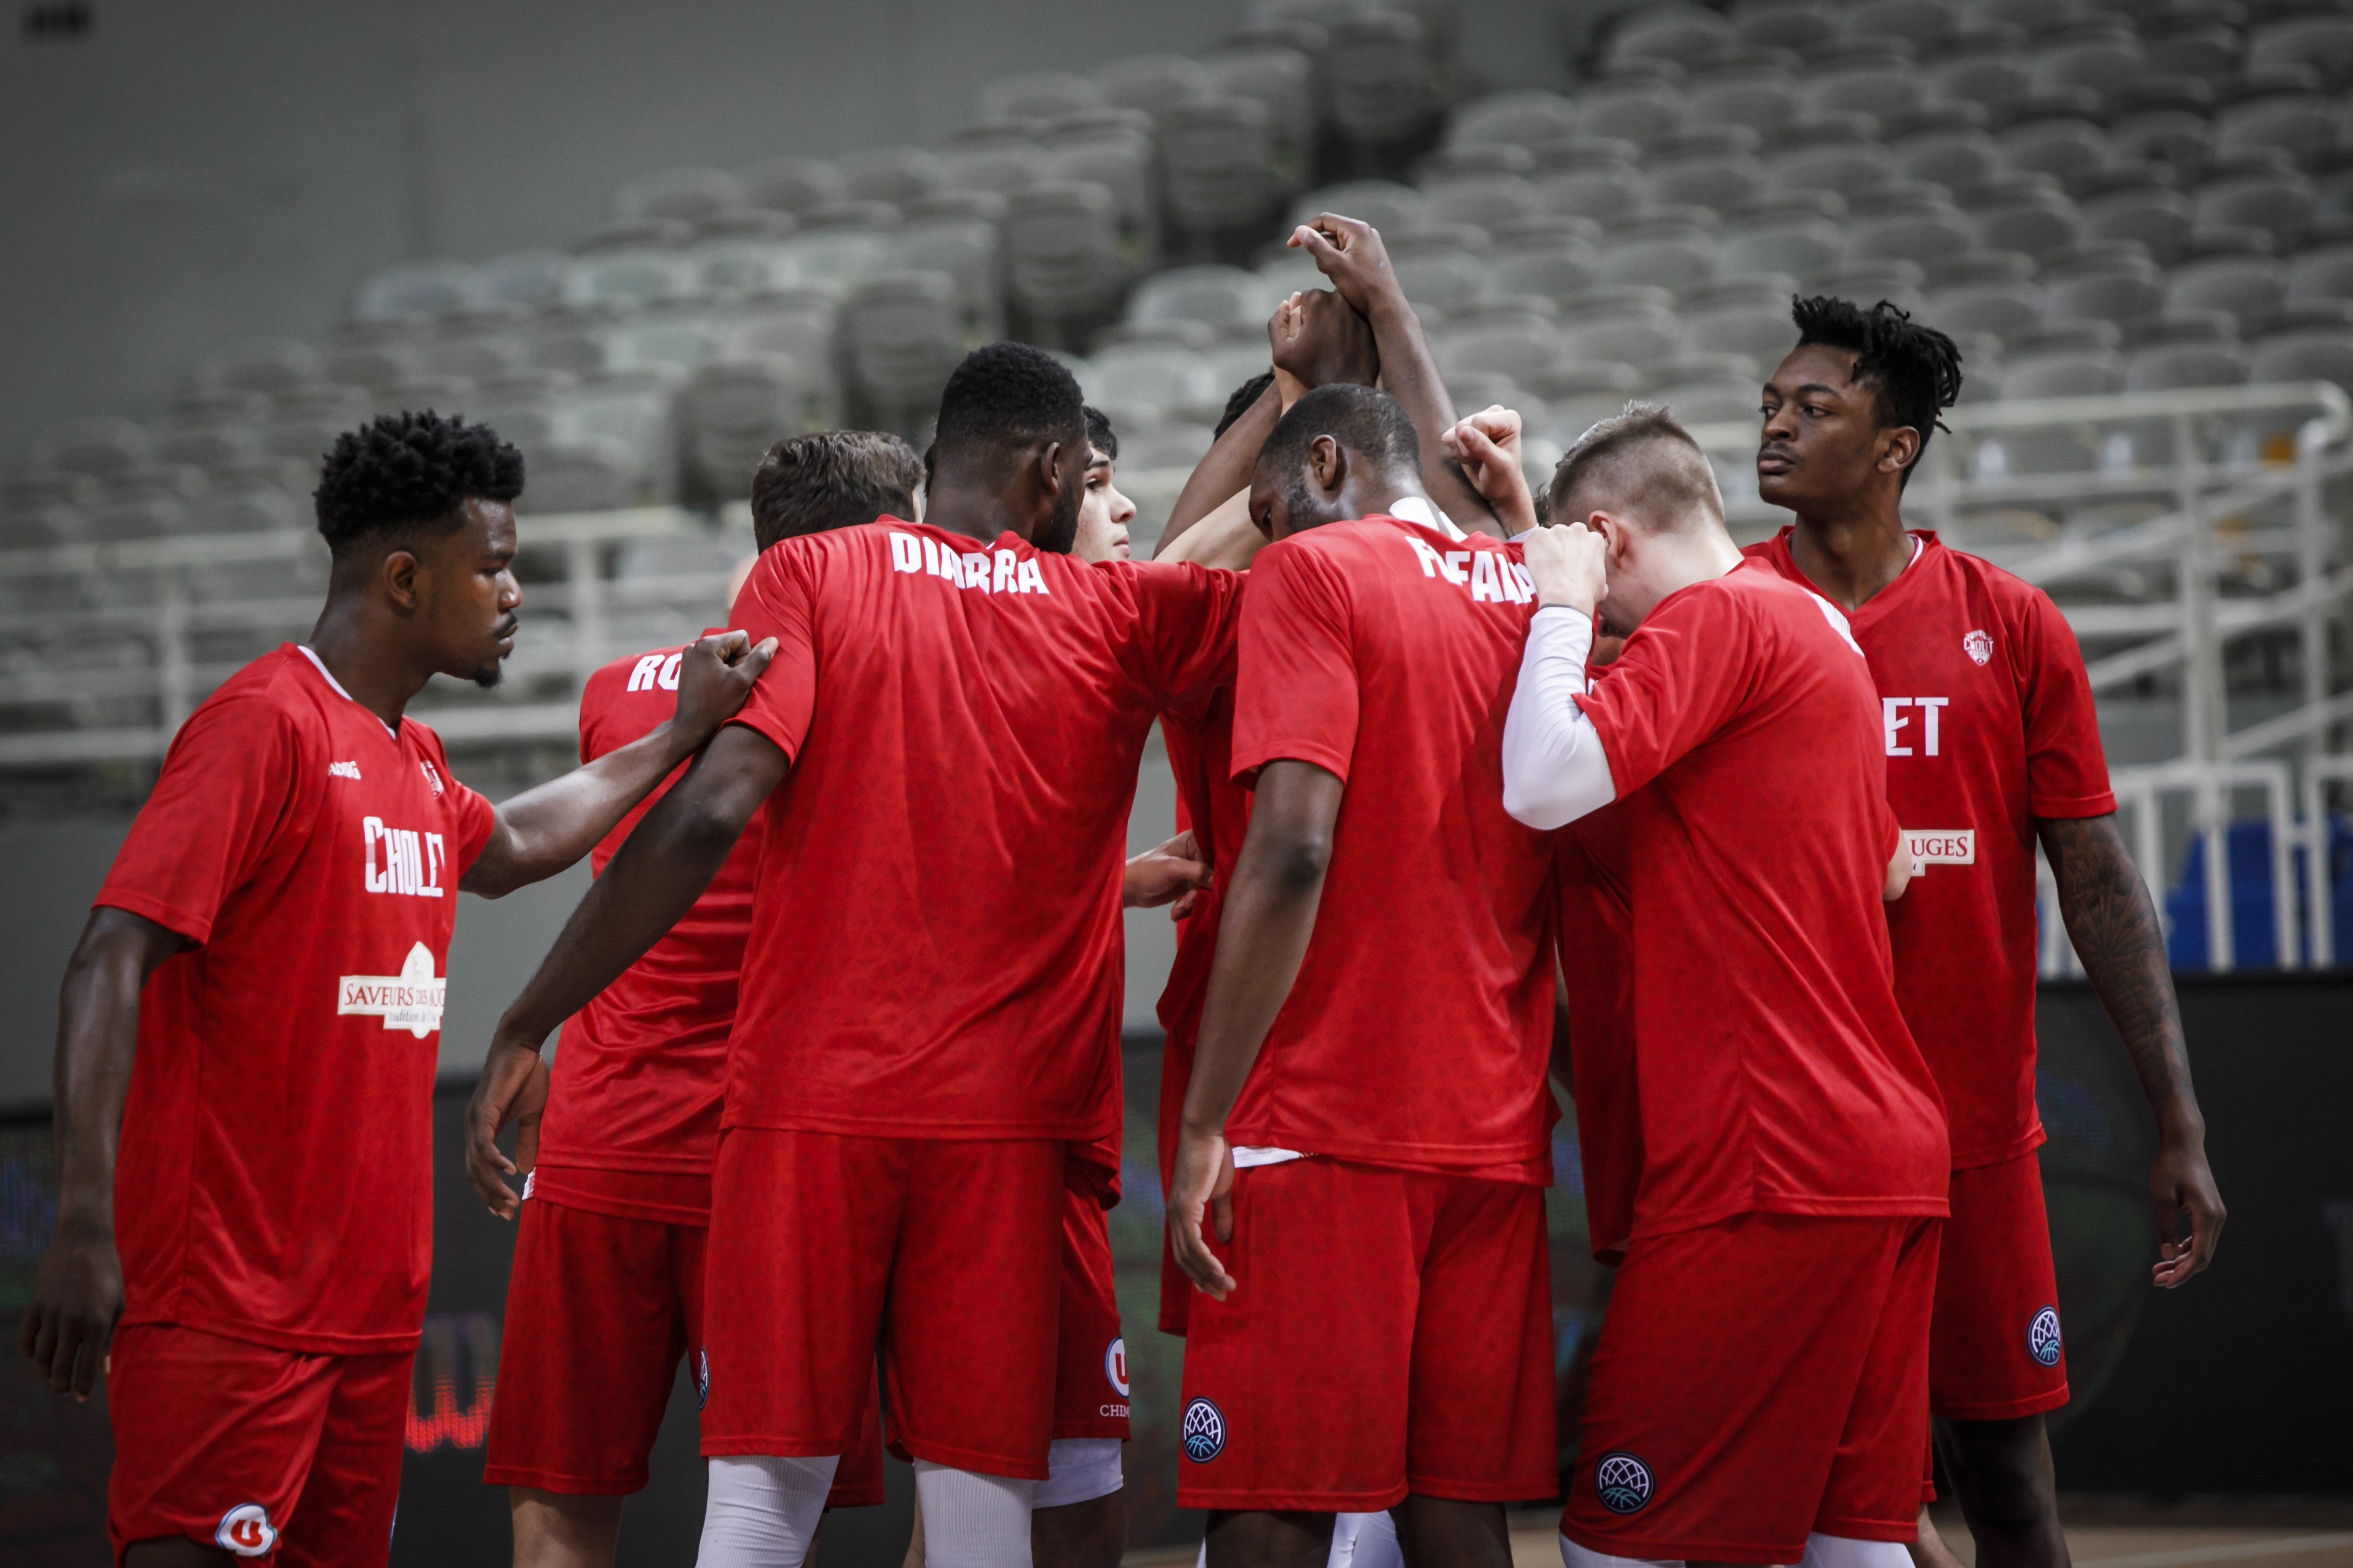
[[[1664,597],[1579,698],[1635,851],[1635,1237],[1946,1213],[1880,900],[1880,701],[1835,616],[1744,562]]]

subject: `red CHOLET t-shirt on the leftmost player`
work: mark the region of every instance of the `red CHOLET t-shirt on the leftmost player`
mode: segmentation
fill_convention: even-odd
[[[188,938],[139,997],[125,1324],[416,1345],[456,884],[492,806],[285,644],[188,715],[99,905]]]

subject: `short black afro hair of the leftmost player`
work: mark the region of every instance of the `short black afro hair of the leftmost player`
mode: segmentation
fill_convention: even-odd
[[[376,414],[334,437],[318,475],[318,531],[339,557],[362,541],[402,543],[459,527],[468,501],[522,494],[522,454],[464,416]]]

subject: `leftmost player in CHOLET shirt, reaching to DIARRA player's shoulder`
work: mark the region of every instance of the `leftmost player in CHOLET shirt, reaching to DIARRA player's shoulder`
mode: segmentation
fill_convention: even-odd
[[[588,853],[767,665],[772,644],[704,639],[633,745],[504,806],[456,783],[402,710],[433,675],[499,682],[520,491],[482,425],[336,440],[311,639],[174,736],[66,971],[59,1222],[19,1345],[78,1399],[111,1363],[106,1528],[132,1568],[386,1561],[456,891]]]

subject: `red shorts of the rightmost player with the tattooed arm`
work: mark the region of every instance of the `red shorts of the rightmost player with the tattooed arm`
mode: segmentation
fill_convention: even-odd
[[[1953,1171],[1953,1218],[1937,1265],[1927,1408],[1948,1420],[2014,1420],[2066,1403],[2059,1279],[2042,1161]]]

